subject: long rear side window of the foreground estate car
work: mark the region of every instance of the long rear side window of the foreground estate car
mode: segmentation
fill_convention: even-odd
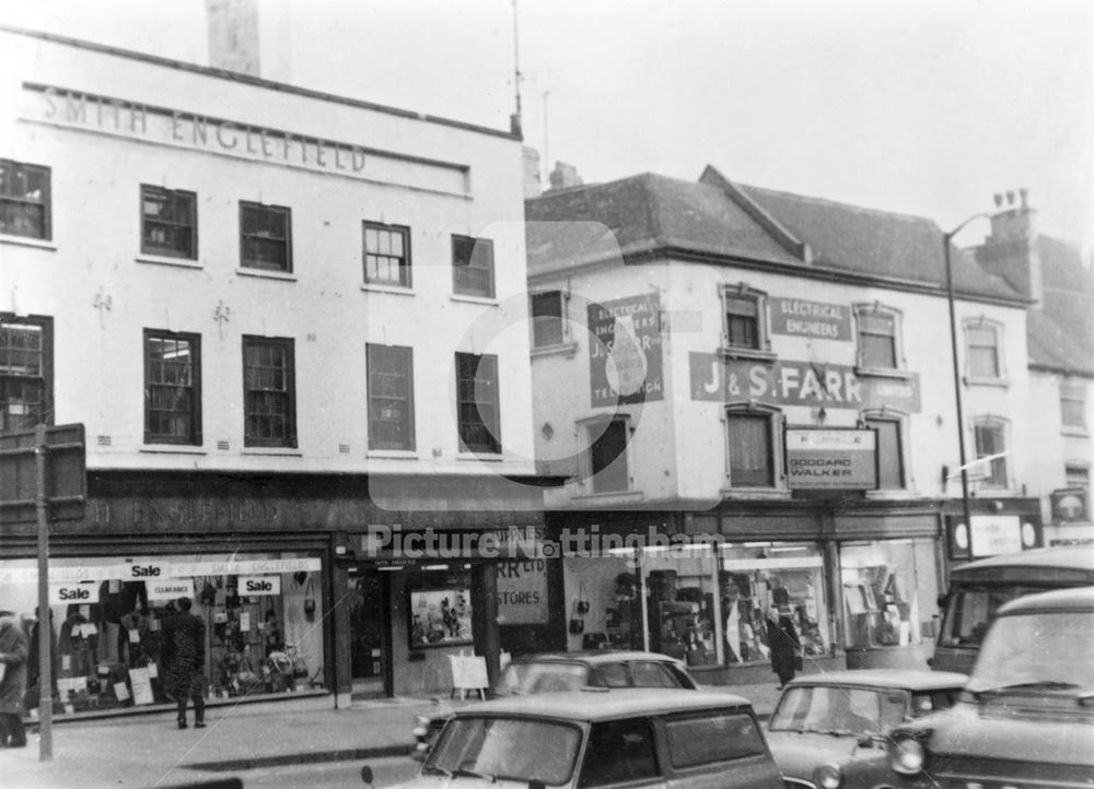
[[[673,767],[694,767],[765,753],[764,737],[752,716],[709,713],[671,718],[665,722]]]

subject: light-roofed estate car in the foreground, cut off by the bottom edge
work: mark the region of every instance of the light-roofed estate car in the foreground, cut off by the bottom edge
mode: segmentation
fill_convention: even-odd
[[[362,778],[370,777],[365,767]],[[604,687],[511,696],[456,710],[417,778],[403,786],[456,785],[783,789],[744,698]]]

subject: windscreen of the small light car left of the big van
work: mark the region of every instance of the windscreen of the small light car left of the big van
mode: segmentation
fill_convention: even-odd
[[[910,694],[901,690],[802,685],[789,688],[771,715],[771,731],[877,734],[908,715]]]

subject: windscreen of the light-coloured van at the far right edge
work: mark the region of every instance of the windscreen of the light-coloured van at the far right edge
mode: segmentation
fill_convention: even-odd
[[[966,690],[1017,688],[1094,690],[1094,613],[1031,612],[996,620]]]

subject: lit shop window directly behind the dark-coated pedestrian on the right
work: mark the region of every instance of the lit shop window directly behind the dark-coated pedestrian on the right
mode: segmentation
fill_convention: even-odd
[[[770,660],[768,614],[789,615],[806,656],[828,655],[830,631],[824,558],[813,544],[741,543],[721,547],[719,593],[725,662]]]

